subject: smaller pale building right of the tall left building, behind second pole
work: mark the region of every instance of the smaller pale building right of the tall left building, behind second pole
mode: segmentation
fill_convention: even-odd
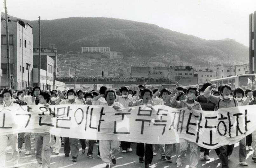
[[[38,55],[33,56],[33,86],[38,86]],[[54,60],[48,55],[41,56],[40,88],[41,90],[53,90],[53,65]]]

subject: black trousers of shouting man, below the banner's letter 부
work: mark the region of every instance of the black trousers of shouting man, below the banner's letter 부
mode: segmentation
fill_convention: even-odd
[[[145,161],[144,161],[145,165],[151,164],[153,160],[153,145],[145,144],[145,147],[144,147],[144,143],[137,143],[136,155],[138,157],[145,156]]]

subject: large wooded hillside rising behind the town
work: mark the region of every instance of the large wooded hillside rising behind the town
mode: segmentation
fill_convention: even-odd
[[[28,21],[33,26],[34,47],[38,46],[38,21]],[[129,56],[154,56],[177,54],[186,62],[199,58],[215,57],[234,60],[241,64],[249,61],[249,48],[232,39],[204,40],[159,26],[104,17],[72,17],[41,20],[42,47],[56,43],[58,53],[80,52],[83,46],[110,47],[111,51]],[[227,59],[228,58],[228,59]],[[207,62],[207,60],[199,62]],[[221,63],[221,62],[220,62]]]

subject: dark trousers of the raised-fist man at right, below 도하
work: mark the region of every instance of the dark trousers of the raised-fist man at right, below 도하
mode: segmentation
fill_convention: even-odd
[[[230,156],[233,152],[233,145],[224,145],[215,149],[215,152],[220,157],[222,168],[228,168],[228,159],[227,156]]]

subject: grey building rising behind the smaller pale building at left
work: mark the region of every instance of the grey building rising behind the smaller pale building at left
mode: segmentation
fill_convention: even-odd
[[[39,55],[39,48],[33,48],[33,55]],[[54,43],[49,43],[48,48],[41,48],[41,56],[48,55],[54,60],[53,65],[53,85],[55,84],[55,77],[57,75],[57,48]]]

